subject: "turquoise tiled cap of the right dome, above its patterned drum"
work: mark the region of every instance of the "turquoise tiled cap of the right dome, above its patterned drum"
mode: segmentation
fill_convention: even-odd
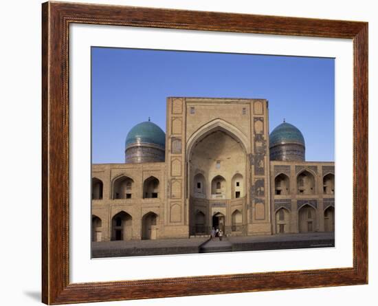
[[[269,135],[269,147],[277,144],[302,144],[304,146],[304,138],[299,129],[293,124],[283,122],[276,129],[271,131]]]

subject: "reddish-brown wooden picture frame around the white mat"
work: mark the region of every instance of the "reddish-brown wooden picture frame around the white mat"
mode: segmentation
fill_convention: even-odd
[[[85,303],[368,283],[368,23],[47,2],[42,5],[42,301]],[[353,39],[353,267],[69,283],[69,25]]]

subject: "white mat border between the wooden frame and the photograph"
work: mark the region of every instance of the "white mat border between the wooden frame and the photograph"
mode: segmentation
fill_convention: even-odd
[[[82,24],[71,24],[69,33],[70,283],[353,266],[351,39]],[[335,58],[336,247],[90,259],[91,46]],[[165,107],[165,103],[162,105]],[[322,118],[319,122],[322,123]]]

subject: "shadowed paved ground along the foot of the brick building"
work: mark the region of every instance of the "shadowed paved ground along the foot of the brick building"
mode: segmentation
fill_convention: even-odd
[[[335,246],[335,234],[333,232],[223,237],[223,241],[219,241],[219,238],[209,240],[208,237],[200,237],[190,239],[93,242],[92,256],[98,258],[333,246]]]

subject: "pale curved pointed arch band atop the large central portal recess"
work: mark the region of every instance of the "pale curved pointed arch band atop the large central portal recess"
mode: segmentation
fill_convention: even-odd
[[[222,119],[214,119],[207,124],[203,125],[197,131],[195,131],[190,138],[188,139],[188,142],[186,143],[186,158],[190,159],[190,153],[192,151],[192,148],[199,140],[202,138],[205,138],[207,135],[214,131],[223,131],[227,135],[230,135],[230,137],[234,138],[236,142],[240,143],[243,149],[245,150],[245,153],[248,153],[250,151],[249,142],[247,139],[247,136],[243,134],[237,127],[230,124],[229,122],[222,120]]]

